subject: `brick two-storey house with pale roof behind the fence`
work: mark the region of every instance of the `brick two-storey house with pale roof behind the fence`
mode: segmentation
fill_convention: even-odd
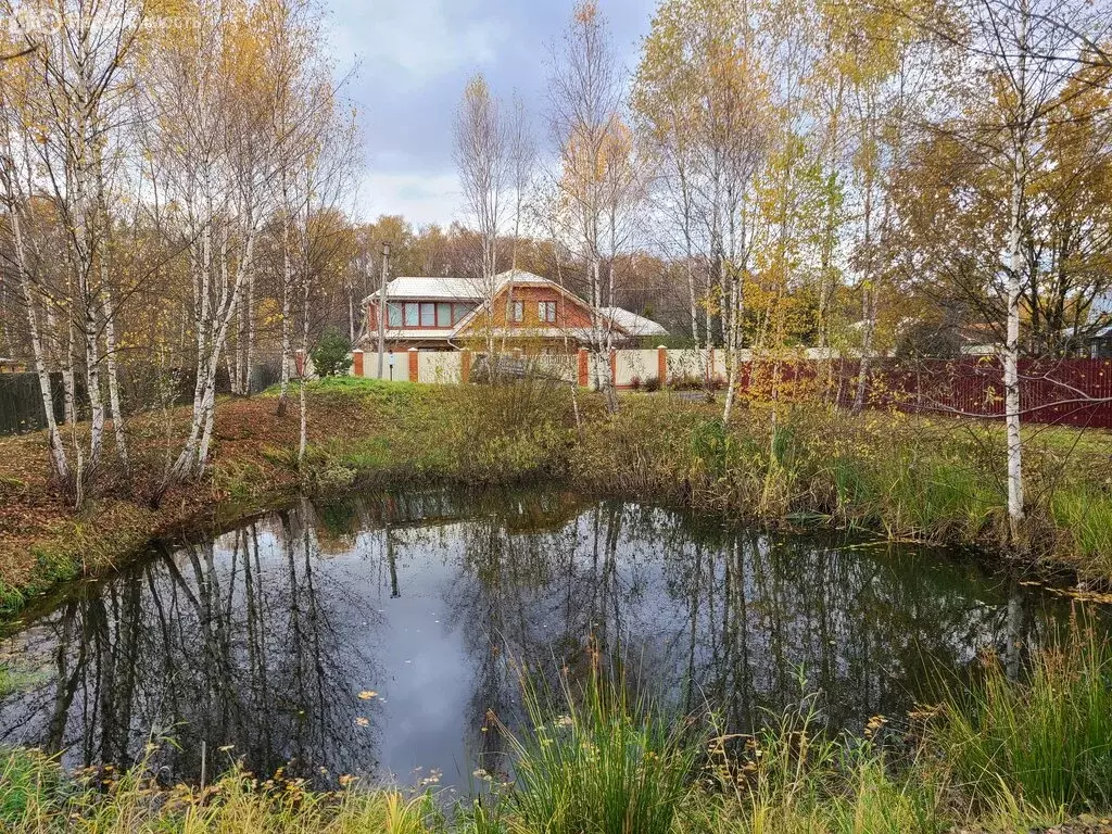
[[[364,300],[367,332],[360,346],[378,344],[378,294]],[[655,321],[620,307],[598,309],[615,346],[667,336]],[[555,281],[510,270],[493,286],[467,278],[395,278],[386,285],[386,347],[389,351],[484,349],[493,337],[530,353],[568,353],[590,344],[590,305]]]

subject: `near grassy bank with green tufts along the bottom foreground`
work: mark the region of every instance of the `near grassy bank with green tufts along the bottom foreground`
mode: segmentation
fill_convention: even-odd
[[[445,797],[345,784],[314,793],[232,768],[203,790],[159,786],[138,766],[72,776],[41,754],[0,753],[0,828],[86,832],[434,832],[456,834],[903,834],[1110,831],[1112,653],[1076,632],[1026,683],[987,663],[981,684],[855,737],[824,735],[803,706],[756,736],[723,736],[712,713],[675,716],[597,671],[508,734],[516,782]],[[477,778],[486,778],[476,772]],[[348,780],[341,777],[341,782]],[[1063,821],[1073,818],[1075,825]]]

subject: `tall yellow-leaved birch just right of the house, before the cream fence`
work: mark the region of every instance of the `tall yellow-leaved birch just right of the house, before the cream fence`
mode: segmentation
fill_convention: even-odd
[[[669,0],[646,40],[634,95],[662,165],[658,192],[679,227],[696,347],[699,310],[708,348],[712,318],[718,319],[726,420],[743,345],[744,286],[755,234],[753,183],[772,133],[764,48],[734,0]],[[709,361],[708,350],[708,381]]]

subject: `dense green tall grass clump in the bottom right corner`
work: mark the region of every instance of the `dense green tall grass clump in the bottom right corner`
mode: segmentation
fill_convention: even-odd
[[[1075,625],[1035,657],[1025,682],[989,661],[982,682],[949,695],[934,734],[976,795],[1006,787],[1048,807],[1112,807],[1108,638]]]

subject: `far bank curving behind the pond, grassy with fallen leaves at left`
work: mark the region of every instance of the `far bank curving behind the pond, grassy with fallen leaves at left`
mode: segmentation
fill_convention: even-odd
[[[599,494],[685,504],[771,523],[830,523],[892,538],[1005,546],[999,426],[820,406],[718,407],[631,395],[615,417],[597,397],[519,384],[414,386],[330,379],[308,390],[309,449],[296,465],[297,409],[272,396],[221,401],[212,465],[167,487],[167,437],[185,413],[133,420],[135,470],[106,467],[80,512],[51,489],[41,435],[0,440],[0,608],[102,570],[172,533],[298,488],[559,479]],[[774,428],[775,426],[775,428]],[[109,451],[109,456],[111,456]],[[1024,558],[1112,577],[1112,438],[1033,427]]]

